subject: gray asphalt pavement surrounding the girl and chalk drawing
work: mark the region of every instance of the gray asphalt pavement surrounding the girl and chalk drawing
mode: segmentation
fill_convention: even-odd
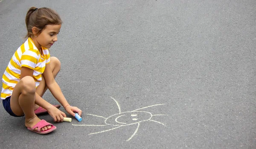
[[[56,81],[83,111],[81,122],[39,116],[57,129],[38,135],[1,106],[0,148],[256,149],[255,0],[0,1],[1,76],[24,41],[27,10],[50,7],[64,22],[50,49],[61,61]],[[135,113],[139,128],[72,125],[106,125],[102,117],[119,113],[111,97],[127,124],[131,111],[165,105]],[[49,91],[44,99],[58,103]]]

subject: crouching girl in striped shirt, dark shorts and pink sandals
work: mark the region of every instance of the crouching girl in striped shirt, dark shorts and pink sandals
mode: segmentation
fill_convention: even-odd
[[[55,122],[62,122],[66,117],[58,109],[60,105],[53,106],[42,98],[47,89],[70,115],[82,113],[70,106],[55,82],[61,64],[56,57],[50,57],[48,49],[57,41],[61,23],[52,9],[31,7],[26,14],[27,40],[12,56],[2,78],[4,108],[15,117],[25,115],[25,126],[39,134],[52,132],[56,127],[36,114],[48,112]]]

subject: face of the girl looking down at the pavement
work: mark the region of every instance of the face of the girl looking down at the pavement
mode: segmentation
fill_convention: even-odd
[[[35,38],[39,46],[49,49],[57,40],[61,25],[47,25],[45,29]]]

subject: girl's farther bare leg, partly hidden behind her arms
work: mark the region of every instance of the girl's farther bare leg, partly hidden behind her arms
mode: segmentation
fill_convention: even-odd
[[[61,62],[56,57],[50,57],[49,65],[51,66],[53,77],[55,78],[57,76],[58,72],[61,70]],[[42,75],[42,80],[41,80],[39,86],[36,88],[36,92],[38,93],[39,96],[42,97],[47,89],[48,88],[46,86],[44,76]],[[34,110],[36,110],[38,108],[39,108],[39,106],[37,104],[35,104]]]

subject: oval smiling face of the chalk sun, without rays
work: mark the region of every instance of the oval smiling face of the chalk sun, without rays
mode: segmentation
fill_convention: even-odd
[[[122,112],[116,115],[111,115],[105,120],[105,123],[113,126],[127,126],[150,120],[151,117],[151,113],[145,111]]]

